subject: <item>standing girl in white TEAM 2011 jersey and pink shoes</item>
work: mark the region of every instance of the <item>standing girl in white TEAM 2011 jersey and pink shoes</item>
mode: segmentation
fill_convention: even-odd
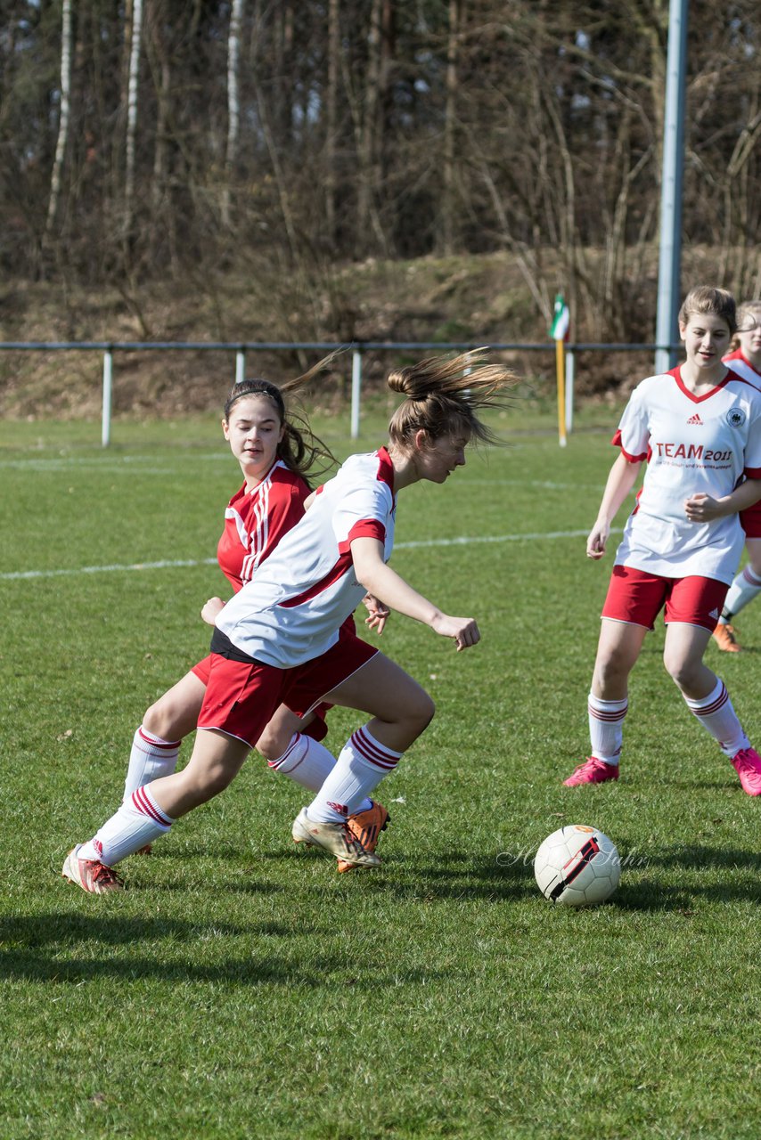
[[[647,471],[602,608],[588,706],[591,756],[568,787],[618,779],[629,674],[665,606],[667,671],[743,789],[761,795],[761,757],[723,683],[703,663],[743,549],[737,512],[761,498],[761,393],[722,360],[736,328],[730,293],[694,288],[679,314],[687,359],[634,389],[614,437],[621,455],[586,540],[590,559],[605,554],[610,524],[646,461]]]

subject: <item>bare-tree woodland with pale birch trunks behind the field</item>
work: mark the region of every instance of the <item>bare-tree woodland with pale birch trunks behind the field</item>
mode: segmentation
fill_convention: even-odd
[[[683,284],[759,295],[761,9],[689,8]],[[57,336],[104,335],[87,311],[106,298],[144,339],[408,334],[363,318],[351,267],[387,267],[388,316],[388,267],[496,258],[521,298],[501,339],[544,337],[560,288],[576,340],[651,341],[667,17],[667,0],[3,0],[0,335],[44,333],[50,298]],[[230,319],[242,293],[266,327]],[[489,334],[477,310],[454,295],[447,339]]]

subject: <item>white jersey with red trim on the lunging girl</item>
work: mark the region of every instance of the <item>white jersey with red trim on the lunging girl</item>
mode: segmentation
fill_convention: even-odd
[[[249,657],[280,669],[325,653],[365,595],[351,543],[377,538],[388,561],[395,515],[394,467],[386,448],[353,455],[230,598],[217,628]]]

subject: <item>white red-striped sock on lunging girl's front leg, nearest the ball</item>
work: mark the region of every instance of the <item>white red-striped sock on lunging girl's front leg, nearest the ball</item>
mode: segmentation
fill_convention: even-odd
[[[341,749],[335,767],[307,807],[315,823],[342,823],[347,816],[363,811],[369,797],[383,776],[399,763],[402,752],[379,743],[367,726],[357,728]]]

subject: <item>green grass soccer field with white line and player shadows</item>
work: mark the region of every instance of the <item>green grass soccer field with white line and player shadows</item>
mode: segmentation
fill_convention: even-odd
[[[129,889],[59,877],[121,795],[141,714],[208,648],[200,605],[238,486],[212,420],[0,426],[2,1140],[758,1138],[761,804],[661,662],[633,675],[622,779],[566,789],[610,557],[584,557],[615,413],[564,450],[531,407],[510,446],[400,497],[395,567],[480,645],[395,618],[382,648],[437,716],[382,785],[379,872],[338,876],[252,756]],[[341,455],[380,417],[315,426]],[[592,430],[606,424],[606,430]],[[618,520],[621,523],[621,520]],[[470,539],[470,542],[458,542]],[[761,604],[713,645],[761,740]],[[334,710],[339,749],[361,723]],[[618,845],[613,899],[539,894],[561,823]]]

